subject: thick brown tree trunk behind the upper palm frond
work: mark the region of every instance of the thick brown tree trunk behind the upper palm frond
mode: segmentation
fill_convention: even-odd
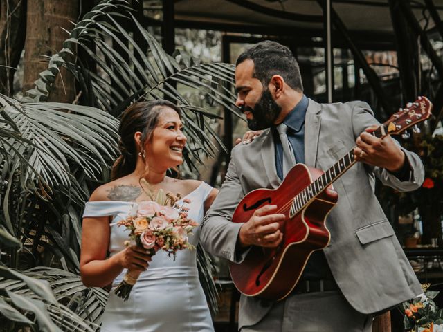
[[[77,21],[78,9],[78,0],[28,0],[24,91],[32,89],[39,73],[48,67],[46,57],[51,57],[62,48],[62,43],[69,37],[63,28],[68,31],[73,28],[71,21]],[[50,91],[49,100],[73,102],[74,99],[74,77],[62,68]]]

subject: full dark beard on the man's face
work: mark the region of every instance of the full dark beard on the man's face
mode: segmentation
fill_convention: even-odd
[[[265,89],[260,100],[255,103],[254,108],[245,106],[242,111],[250,111],[253,115],[253,118],[248,120],[249,129],[262,130],[273,126],[275,119],[282,111],[282,107],[273,100],[269,89]]]

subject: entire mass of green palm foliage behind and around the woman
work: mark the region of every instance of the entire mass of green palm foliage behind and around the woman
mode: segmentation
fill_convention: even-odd
[[[186,41],[188,33],[177,39]],[[202,60],[214,60],[206,46],[198,47],[208,40],[217,38],[197,32],[197,44],[168,55],[127,1],[99,1],[46,57],[31,89],[15,98],[0,95],[1,331],[98,330],[107,291],[85,288],[79,277],[84,201],[109,178],[118,116],[134,101],[167,98],[181,106],[185,175],[195,176],[223,149],[219,113],[239,115],[233,66]],[[73,82],[75,95],[48,102],[60,77],[66,89]],[[198,252],[201,282],[215,310],[211,262]]]

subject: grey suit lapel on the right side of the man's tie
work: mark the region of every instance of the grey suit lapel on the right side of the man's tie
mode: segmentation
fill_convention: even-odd
[[[317,160],[318,136],[320,135],[320,104],[309,99],[305,118],[305,164],[315,167]]]

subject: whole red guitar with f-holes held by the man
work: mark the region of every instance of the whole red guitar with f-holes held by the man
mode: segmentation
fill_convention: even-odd
[[[373,134],[379,138],[399,134],[429,118],[431,109],[431,102],[426,97],[419,97],[381,124]],[[280,246],[252,246],[241,264],[229,264],[230,275],[241,293],[272,300],[284,299],[291,293],[311,253],[329,243],[325,219],[338,199],[332,183],[354,163],[352,149],[325,172],[297,164],[280,187],[275,190],[257,189],[244,196],[235,209],[233,222],[248,221],[255,210],[266,205],[271,197],[272,204],[278,206],[276,213],[285,214],[286,219],[280,222],[283,233]]]

